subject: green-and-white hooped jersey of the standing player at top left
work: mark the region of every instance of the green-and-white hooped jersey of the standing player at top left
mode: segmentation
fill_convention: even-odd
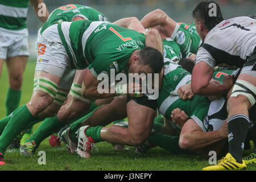
[[[7,30],[27,28],[29,0],[0,0],[0,27]]]

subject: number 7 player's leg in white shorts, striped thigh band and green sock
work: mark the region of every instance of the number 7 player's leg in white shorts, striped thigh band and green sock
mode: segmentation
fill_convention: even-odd
[[[57,94],[61,77],[68,67],[68,63],[65,60],[67,53],[64,46],[59,43],[60,38],[57,37],[57,27],[53,28],[48,32],[47,39],[43,36],[40,38],[31,100],[26,105],[16,109],[16,113],[11,117],[5,130],[3,130],[0,137],[0,152],[2,154],[16,135],[26,129],[29,123],[42,121],[39,114],[52,104]],[[51,42],[51,39],[58,40],[58,42]],[[51,115],[47,117],[51,117]]]

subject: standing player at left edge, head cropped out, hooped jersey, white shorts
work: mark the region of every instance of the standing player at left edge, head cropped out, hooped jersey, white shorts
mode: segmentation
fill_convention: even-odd
[[[26,24],[28,3],[41,22],[46,22],[49,13],[42,0],[0,1],[0,76],[5,61],[9,75],[9,89],[5,101],[6,115],[11,114],[19,106],[22,94],[23,72],[29,56]],[[44,14],[40,15],[39,11]],[[19,139],[15,139],[9,148],[18,147]]]

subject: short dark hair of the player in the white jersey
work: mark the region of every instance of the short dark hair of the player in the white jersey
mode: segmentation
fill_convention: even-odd
[[[209,15],[210,3],[216,4],[216,16]],[[200,2],[193,10],[192,16],[193,18],[203,20],[205,28],[207,28],[208,31],[212,30],[213,27],[224,20],[221,14],[220,6],[218,6],[218,4],[214,1]]]

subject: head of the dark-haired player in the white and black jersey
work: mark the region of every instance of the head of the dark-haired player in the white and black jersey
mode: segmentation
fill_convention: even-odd
[[[202,41],[213,27],[224,20],[220,6],[214,1],[200,2],[193,10],[192,16],[195,20],[196,31]]]

